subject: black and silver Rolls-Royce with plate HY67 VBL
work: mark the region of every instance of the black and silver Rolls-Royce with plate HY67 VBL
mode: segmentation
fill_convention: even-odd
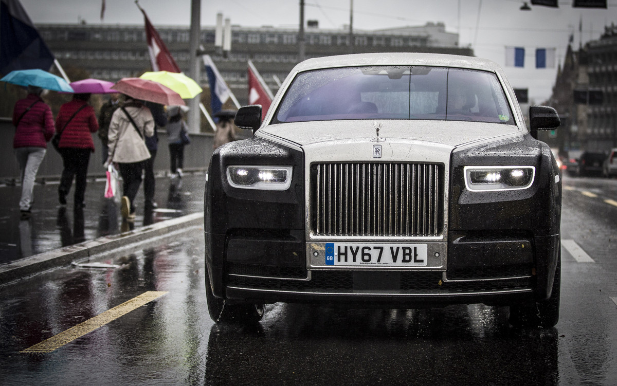
[[[475,57],[309,59],[254,136],[219,147],[205,177],[205,283],[216,322],[264,304],[510,306],[514,326],[554,326],[561,179],[503,70]]]

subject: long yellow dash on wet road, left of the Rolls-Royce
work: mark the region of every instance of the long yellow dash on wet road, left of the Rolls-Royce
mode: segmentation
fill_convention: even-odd
[[[152,300],[167,294],[167,291],[147,291],[143,294],[124,302],[121,305],[117,305],[110,310],[105,311],[102,314],[94,316],[94,318],[88,319],[85,322],[73,326],[70,329],[60,332],[60,334],[54,335],[49,339],[43,340],[41,343],[36,343],[27,349],[20,351],[20,353],[51,353],[51,351],[60,348],[65,344],[72,342],[73,340],[88,334],[88,332],[94,331],[99,327],[120,318],[124,314],[128,314],[135,308],[139,308]]]

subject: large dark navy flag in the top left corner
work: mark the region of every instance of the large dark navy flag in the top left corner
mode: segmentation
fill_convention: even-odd
[[[0,75],[13,70],[48,71],[54,54],[23,9],[19,0],[0,0]]]

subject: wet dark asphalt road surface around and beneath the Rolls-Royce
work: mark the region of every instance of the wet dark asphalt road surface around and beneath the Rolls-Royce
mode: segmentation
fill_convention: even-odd
[[[0,384],[616,385],[617,179],[564,177],[561,318],[508,326],[507,308],[331,310],[277,303],[258,326],[213,324],[203,240],[0,287]],[[608,200],[608,202],[607,202]],[[164,295],[50,353],[20,353],[147,291]]]

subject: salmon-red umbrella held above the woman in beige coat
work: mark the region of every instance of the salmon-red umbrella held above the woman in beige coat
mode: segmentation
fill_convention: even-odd
[[[162,105],[183,105],[186,104],[178,92],[163,86],[162,84],[142,78],[122,78],[117,81],[112,89],[122,92],[135,99],[154,102]]]

